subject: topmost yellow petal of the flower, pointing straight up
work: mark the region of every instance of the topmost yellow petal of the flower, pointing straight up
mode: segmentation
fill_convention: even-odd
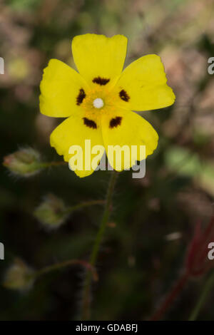
[[[105,85],[110,88],[123,70],[126,46],[127,38],[123,35],[108,38],[86,33],[73,38],[73,59],[79,73],[91,87]],[[103,79],[103,83],[96,83],[99,79]]]

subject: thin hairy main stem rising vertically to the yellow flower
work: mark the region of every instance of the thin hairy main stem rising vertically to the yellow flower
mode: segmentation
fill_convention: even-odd
[[[101,247],[101,242],[103,240],[103,234],[106,230],[106,224],[110,216],[111,201],[112,201],[112,196],[113,196],[113,190],[116,184],[117,175],[118,173],[116,171],[111,172],[111,177],[109,180],[108,190],[106,194],[106,205],[104,207],[101,225],[96,235],[96,239],[93,244],[93,249],[92,249],[91,257],[89,261],[89,263],[91,264],[91,267],[96,267],[96,260],[98,257],[98,252]],[[92,282],[91,272],[87,272],[86,279],[83,284],[83,304],[82,304],[82,315],[81,315],[82,320],[89,320],[91,318],[91,282]]]

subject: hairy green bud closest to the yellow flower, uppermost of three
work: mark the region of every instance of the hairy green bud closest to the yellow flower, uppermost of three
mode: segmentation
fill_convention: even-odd
[[[33,148],[23,148],[5,156],[3,165],[15,175],[29,177],[41,170],[40,154]]]

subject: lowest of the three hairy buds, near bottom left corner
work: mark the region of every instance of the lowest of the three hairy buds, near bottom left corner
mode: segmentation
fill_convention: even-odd
[[[26,291],[34,284],[34,271],[21,259],[15,259],[14,264],[6,270],[3,285],[7,289]]]

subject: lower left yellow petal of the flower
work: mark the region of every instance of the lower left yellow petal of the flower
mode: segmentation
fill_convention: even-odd
[[[105,150],[103,148],[101,127],[98,125],[98,123],[93,124],[96,124],[97,128],[90,128],[88,125],[86,125],[84,119],[81,118],[80,115],[72,115],[70,118],[67,118],[63,121],[63,123],[58,125],[53,133],[51,133],[51,146],[56,149],[58,155],[63,155],[63,158],[66,162],[69,161],[70,168],[74,170],[76,175],[79,177],[86,177],[87,175],[91,175],[99,163],[96,163],[96,166],[93,168],[92,163],[94,160],[96,160],[98,155],[98,152],[91,154],[93,146],[102,145],[101,156]],[[87,143],[85,142],[86,140]],[[90,146],[88,144],[88,140],[91,140]],[[73,148],[73,153],[71,153],[71,145]],[[73,147],[73,145],[77,145],[79,148],[81,148],[83,153],[82,167],[78,165],[76,170],[76,162],[73,162],[72,158],[74,158],[76,155],[77,148]]]

